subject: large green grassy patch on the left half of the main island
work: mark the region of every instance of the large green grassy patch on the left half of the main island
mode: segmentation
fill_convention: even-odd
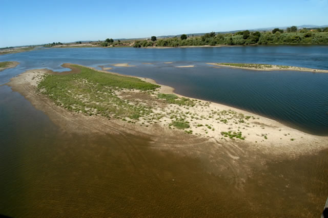
[[[88,115],[100,114],[110,118],[129,117],[138,119],[152,113],[151,107],[131,104],[117,96],[117,92],[156,90],[159,86],[138,78],[101,73],[89,68],[74,66],[80,73],[68,75],[46,75],[38,84],[38,90],[57,105],[67,110]]]

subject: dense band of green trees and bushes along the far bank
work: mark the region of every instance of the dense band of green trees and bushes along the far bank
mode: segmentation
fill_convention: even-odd
[[[180,46],[216,46],[216,45],[288,45],[288,44],[323,44],[328,43],[328,28],[301,29],[296,26],[285,31],[275,28],[268,32],[251,32],[249,30],[236,33],[206,33],[202,36],[187,36],[151,40],[136,40],[134,47],[180,47]]]

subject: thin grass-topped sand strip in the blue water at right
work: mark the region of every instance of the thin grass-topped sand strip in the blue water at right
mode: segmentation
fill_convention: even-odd
[[[219,67],[230,67],[240,68],[255,71],[305,71],[305,72],[316,72],[316,73],[328,73],[328,70],[312,69],[312,68],[301,68],[293,66],[281,66],[273,64],[262,64],[262,63],[207,63],[213,66]]]

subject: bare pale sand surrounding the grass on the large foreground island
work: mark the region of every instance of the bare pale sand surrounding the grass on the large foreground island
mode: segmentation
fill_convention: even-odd
[[[65,74],[78,73],[72,69],[70,64],[66,63],[63,65],[71,69],[69,72],[64,72]],[[89,69],[95,70],[94,68]],[[107,74],[112,73],[101,70],[96,71]],[[42,76],[47,73],[56,74],[56,72],[48,69],[28,70],[12,78],[6,85],[11,86],[13,91],[17,91],[25,96],[38,110],[44,111],[55,124],[65,128],[68,132],[85,134],[115,134],[118,132],[125,132],[133,135],[148,136],[153,138],[154,141],[158,141],[157,139],[160,138],[161,141],[170,143],[186,143],[186,141],[192,143],[211,142],[216,144],[241,143],[247,144],[251,150],[257,150],[257,152],[263,154],[290,158],[304,154],[312,154],[313,152],[328,148],[328,144],[325,143],[325,141],[328,141],[328,137],[326,136],[307,134],[298,129],[286,126],[279,121],[243,111],[239,108],[189,97],[188,99],[196,102],[195,107],[179,106],[176,104],[166,105],[163,104],[161,99],[157,99],[156,103],[162,105],[162,107],[154,108],[154,113],[162,113],[165,115],[171,114],[173,113],[172,111],[174,111],[174,113],[177,112],[177,114],[173,113],[174,116],[184,116],[190,124],[190,127],[186,131],[171,128],[170,118],[168,116],[163,116],[163,118],[160,118],[158,121],[152,121],[151,124],[144,125],[141,124],[141,122],[146,123],[146,118],[145,120],[144,118],[140,118],[140,121],[136,121],[136,123],[129,123],[121,119],[108,120],[106,117],[100,115],[87,116],[85,114],[71,112],[63,107],[55,105],[48,97],[37,93],[36,86],[38,79],[41,79]],[[126,76],[117,73],[113,74]],[[153,79],[135,78],[157,84]],[[160,85],[158,93],[174,94],[179,98],[187,98],[174,93],[174,88],[166,85]],[[137,99],[139,94],[129,91],[124,96]],[[156,98],[152,99],[153,100],[150,100],[150,102],[154,101]],[[145,103],[146,100],[143,101]],[[127,120],[129,119],[127,118]],[[77,123],[82,124],[81,126],[76,126]],[[100,128],[99,126],[103,127]],[[231,133],[229,133],[229,131],[231,131]],[[241,138],[243,139],[232,137],[234,132],[242,132]]]

